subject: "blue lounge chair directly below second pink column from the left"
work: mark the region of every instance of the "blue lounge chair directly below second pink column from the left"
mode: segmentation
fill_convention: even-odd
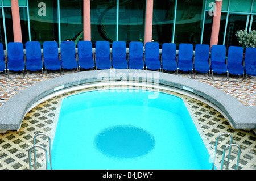
[[[79,63],[79,69],[94,69],[91,41],[79,41],[77,43],[77,62]]]

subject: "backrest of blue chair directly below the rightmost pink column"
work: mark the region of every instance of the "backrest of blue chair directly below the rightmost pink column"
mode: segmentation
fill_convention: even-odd
[[[212,45],[210,49],[211,62],[225,62],[226,61],[226,47],[225,45]]]

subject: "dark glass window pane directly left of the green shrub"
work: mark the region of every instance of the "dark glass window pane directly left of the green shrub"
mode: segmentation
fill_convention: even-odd
[[[229,14],[228,26],[226,30],[225,45],[228,49],[229,46],[241,46],[236,37],[238,30],[245,30],[247,15]]]

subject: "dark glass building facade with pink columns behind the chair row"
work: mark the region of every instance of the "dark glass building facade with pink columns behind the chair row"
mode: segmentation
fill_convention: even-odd
[[[0,16],[5,49],[64,40],[229,47],[239,45],[237,30],[256,30],[256,0],[0,0]]]

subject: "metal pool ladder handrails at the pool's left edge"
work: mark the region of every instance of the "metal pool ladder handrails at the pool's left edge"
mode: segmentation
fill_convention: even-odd
[[[33,143],[34,146],[31,146],[31,148],[28,150],[28,158],[29,158],[29,163],[30,163],[30,170],[32,170],[32,164],[31,164],[31,151],[34,149],[34,166],[35,166],[35,170],[36,170],[36,148],[40,148],[42,150],[44,150],[45,153],[45,159],[46,159],[46,170],[48,170],[48,156],[47,156],[47,150],[46,148],[44,148],[44,146],[41,145],[36,145],[35,141],[36,141],[36,137],[38,136],[46,136],[48,138],[48,143],[49,143],[49,162],[50,162],[50,167],[52,170],[52,159],[51,159],[51,138],[49,138],[49,136],[47,134],[44,133],[38,133],[34,136],[33,138]]]

